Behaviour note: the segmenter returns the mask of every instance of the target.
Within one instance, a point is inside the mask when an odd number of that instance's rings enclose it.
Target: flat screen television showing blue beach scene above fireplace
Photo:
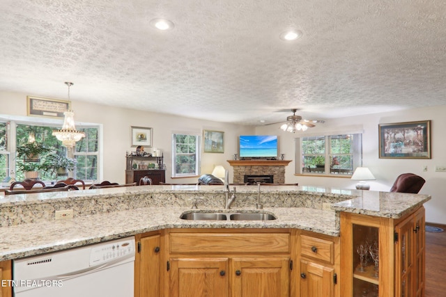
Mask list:
[[[277,157],[277,135],[240,135],[240,158]]]

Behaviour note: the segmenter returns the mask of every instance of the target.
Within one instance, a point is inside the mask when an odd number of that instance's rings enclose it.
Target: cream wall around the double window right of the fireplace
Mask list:
[[[369,167],[376,177],[369,182],[371,190],[389,191],[394,180],[401,173],[412,172],[426,179],[421,194],[431,195],[432,199],[424,204],[426,221],[446,224],[446,172],[435,172],[436,166],[446,166],[446,106],[433,106],[422,109],[410,109],[399,112],[387,112],[372,115],[361,115],[351,118],[328,120],[325,124],[307,130],[307,133],[330,131],[351,131],[363,129],[362,164]],[[394,122],[413,122],[431,120],[431,159],[379,159],[378,158],[378,124]],[[279,129],[280,125],[269,125],[256,128],[256,134],[279,135],[279,151],[285,159],[294,159],[294,138],[304,133],[292,134]],[[427,166],[427,172],[423,167]],[[337,188],[355,188],[356,182],[351,179],[337,177],[305,177],[296,176],[294,161],[286,167],[286,182],[298,182],[300,185],[332,186]]]

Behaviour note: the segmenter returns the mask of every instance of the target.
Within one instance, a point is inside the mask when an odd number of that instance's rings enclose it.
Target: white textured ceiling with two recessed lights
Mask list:
[[[446,104],[445,0],[1,0],[0,13],[0,90],[67,99],[72,81],[72,101],[245,125]]]

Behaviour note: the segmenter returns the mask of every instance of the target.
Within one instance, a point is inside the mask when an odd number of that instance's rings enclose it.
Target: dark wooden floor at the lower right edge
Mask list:
[[[446,226],[445,232],[426,232],[426,294],[425,297],[446,296]]]

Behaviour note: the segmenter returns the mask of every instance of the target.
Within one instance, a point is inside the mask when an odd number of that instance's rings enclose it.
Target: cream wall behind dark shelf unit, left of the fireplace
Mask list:
[[[29,94],[0,91],[0,106],[2,106],[0,114],[26,115],[26,95]],[[175,117],[148,111],[120,109],[73,100],[72,109],[75,111],[76,122],[93,122],[103,125],[104,170],[101,179],[121,184],[125,182],[125,152],[135,150],[135,147],[130,146],[131,126],[153,128],[153,147],[164,152],[164,163],[167,166],[166,182],[168,183],[197,182],[197,177],[171,179],[171,134],[173,131],[198,131],[201,135],[203,135],[203,129],[224,131],[224,153],[202,153],[201,173],[211,173],[216,165],[222,165],[229,170],[231,179],[233,170],[226,160],[233,159],[233,154],[238,153],[238,136],[240,134],[254,133],[252,127]],[[151,152],[151,148],[146,147],[145,151]]]

